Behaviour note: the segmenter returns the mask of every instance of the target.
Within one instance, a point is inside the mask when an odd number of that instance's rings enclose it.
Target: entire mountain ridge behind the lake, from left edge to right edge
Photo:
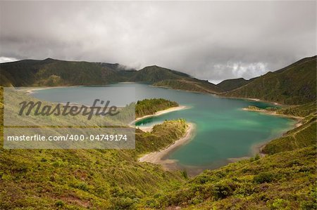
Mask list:
[[[232,98],[258,98],[286,105],[300,105],[316,100],[316,55],[302,58],[260,77],[249,80],[226,79],[217,85],[157,65],[135,70],[118,63],[52,58],[1,63],[0,73],[1,86],[76,86],[134,81]]]

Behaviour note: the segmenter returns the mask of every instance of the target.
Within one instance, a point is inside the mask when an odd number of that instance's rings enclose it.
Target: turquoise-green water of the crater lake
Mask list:
[[[187,169],[189,173],[218,168],[228,164],[231,158],[255,155],[255,145],[261,145],[281,136],[296,124],[292,119],[242,110],[249,105],[261,108],[273,106],[259,101],[219,98],[211,94],[176,91],[138,83],[118,83],[103,88],[107,87],[135,88],[136,100],[166,98],[190,107],[142,119],[136,123],[136,126],[151,126],[166,119],[183,118],[187,122],[196,124],[192,140],[173,150],[166,157],[175,159],[178,166]],[[85,91],[82,91],[82,88],[85,88]],[[71,100],[84,104],[96,98],[106,99],[102,94],[102,88],[94,86],[48,88],[34,91],[32,96],[52,102]],[[118,98],[122,104],[129,103],[125,101],[125,96]]]

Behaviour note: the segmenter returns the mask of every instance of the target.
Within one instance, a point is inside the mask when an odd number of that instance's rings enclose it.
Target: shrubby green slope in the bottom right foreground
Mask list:
[[[206,170],[149,206],[163,209],[316,209],[316,146]]]

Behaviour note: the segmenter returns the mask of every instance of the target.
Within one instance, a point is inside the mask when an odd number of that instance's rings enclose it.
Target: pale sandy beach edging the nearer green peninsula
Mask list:
[[[163,166],[163,169],[166,170],[175,170],[178,169],[177,162],[174,159],[164,159],[169,152],[175,150],[180,145],[184,145],[189,140],[193,138],[193,134],[195,131],[195,125],[192,123],[188,124],[188,129],[184,137],[176,140],[173,145],[169,145],[168,147],[164,148],[163,150],[151,152],[147,155],[144,155],[139,158],[139,162],[149,162],[152,164],[160,164]]]

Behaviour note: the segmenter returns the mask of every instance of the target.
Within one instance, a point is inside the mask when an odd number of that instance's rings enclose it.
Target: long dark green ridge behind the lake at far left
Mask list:
[[[13,86],[94,85],[120,81],[116,70],[99,63],[63,60],[20,60],[1,63],[0,73]],[[1,85],[4,81],[1,79]]]

